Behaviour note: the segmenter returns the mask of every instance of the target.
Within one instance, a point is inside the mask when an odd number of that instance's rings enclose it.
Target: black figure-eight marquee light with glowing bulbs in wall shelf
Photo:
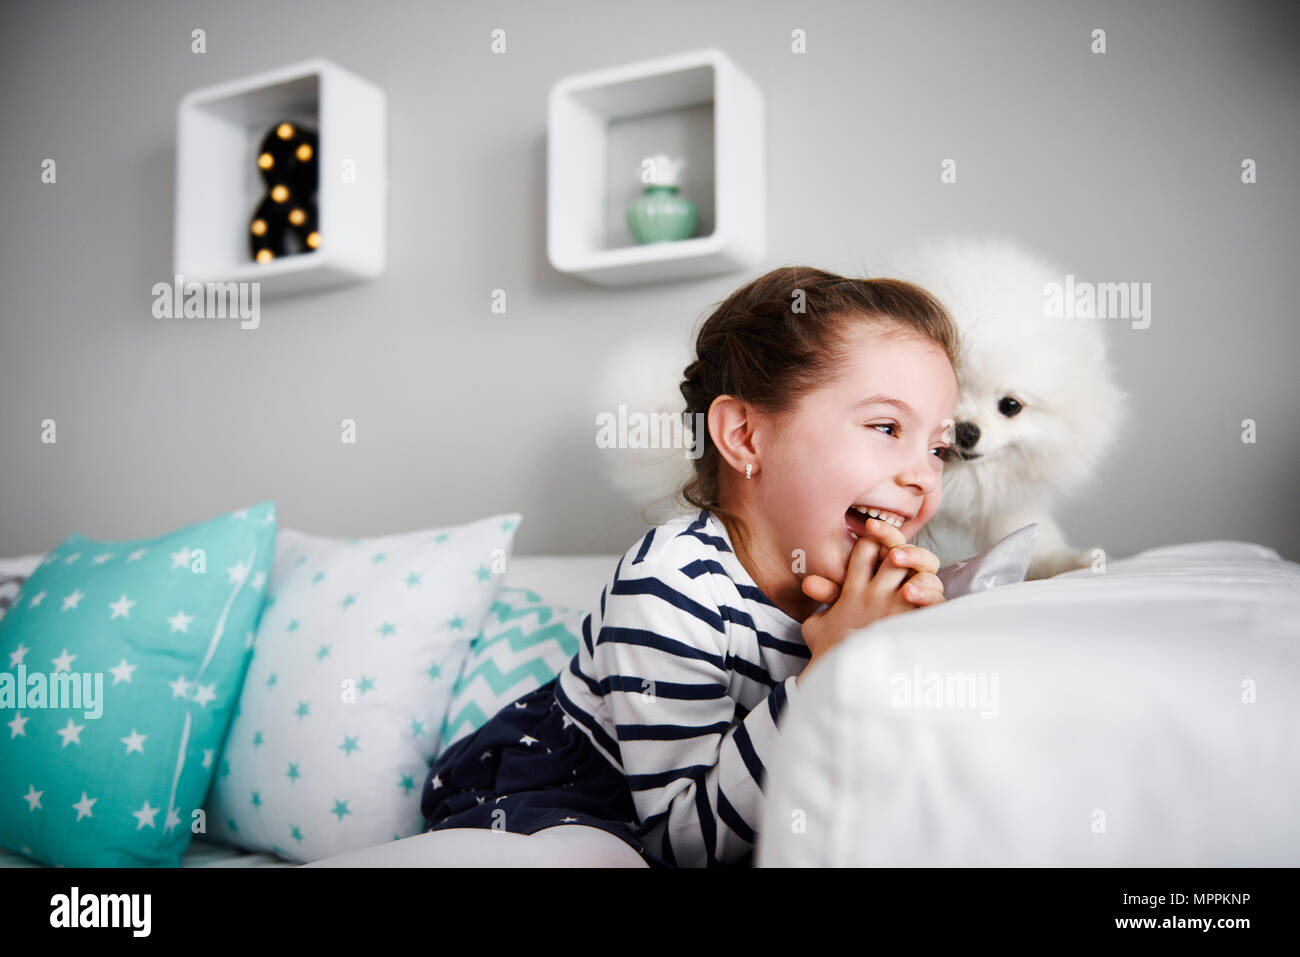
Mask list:
[[[320,248],[316,187],[320,181],[315,130],[282,121],[257,150],[266,194],[248,224],[248,250],[257,263]]]

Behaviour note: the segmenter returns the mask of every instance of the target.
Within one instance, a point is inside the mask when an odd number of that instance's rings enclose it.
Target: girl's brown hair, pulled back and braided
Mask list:
[[[696,360],[682,373],[688,434],[694,415],[707,416],[719,395],[734,395],[777,417],[833,380],[848,358],[848,334],[858,324],[885,335],[933,342],[957,368],[959,339],[948,309],[933,295],[902,280],[853,280],[805,265],[781,267],[741,286],[705,320]],[[744,521],[722,507],[722,454],[707,428],[696,450],[694,476],[677,490],[685,505],[707,508],[744,546]]]

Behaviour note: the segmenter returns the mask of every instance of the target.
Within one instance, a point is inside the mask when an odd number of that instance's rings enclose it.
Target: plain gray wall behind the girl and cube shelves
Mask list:
[[[1153,285],[1150,328],[1110,339],[1136,425],[1066,532],[1113,555],[1232,538],[1300,559],[1290,7],[6,3],[0,555],[266,498],[317,533],[517,510],[520,554],[623,551],[644,523],[606,477],[594,417],[614,406],[593,389],[621,342],[684,354],[712,303],[779,264],[861,272],[926,237],[997,231],[1080,278]],[[763,268],[621,290],[551,270],[551,82],[705,46],[767,96]],[[264,302],[256,332],[153,319],[179,98],[312,56],[389,95],[387,273]],[[946,156],[957,186],[939,182]],[[489,311],[497,287],[507,316]],[[343,417],[359,445],[338,441]]]

